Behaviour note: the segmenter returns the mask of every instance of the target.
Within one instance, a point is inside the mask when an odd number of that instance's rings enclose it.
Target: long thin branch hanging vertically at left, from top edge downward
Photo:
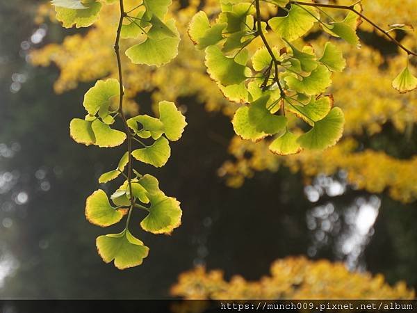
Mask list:
[[[135,200],[133,199],[133,193],[132,193],[132,184],[131,184],[131,179],[132,179],[132,136],[131,136],[131,132],[129,129],[129,126],[127,125],[127,121],[126,121],[126,116],[124,115],[123,112],[123,96],[124,96],[124,89],[123,89],[123,74],[122,74],[122,60],[120,58],[120,47],[119,47],[119,42],[120,42],[120,34],[122,33],[122,25],[123,25],[123,19],[124,17],[126,17],[126,13],[124,12],[124,6],[123,6],[123,0],[120,0],[120,19],[119,19],[119,25],[117,26],[117,35],[116,35],[116,41],[115,41],[115,54],[116,54],[116,58],[117,58],[117,69],[119,72],[119,83],[120,83],[120,100],[119,100],[119,113],[120,113],[120,118],[122,118],[123,121],[123,125],[124,125],[124,130],[126,133],[126,138],[127,138],[127,152],[129,154],[129,163],[128,163],[128,167],[127,167],[127,182],[129,184],[129,191],[130,191],[130,200],[131,200],[131,207],[129,208],[129,214],[127,216],[127,220],[126,220],[126,229],[129,226],[129,220],[131,217],[131,211],[133,209],[133,206],[135,204]]]

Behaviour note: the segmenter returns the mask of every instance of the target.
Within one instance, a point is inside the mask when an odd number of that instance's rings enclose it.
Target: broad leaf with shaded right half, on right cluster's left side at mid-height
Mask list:
[[[241,51],[240,54],[247,56],[247,50]],[[234,58],[224,56],[217,46],[206,48],[206,67],[211,79],[224,86],[239,84],[252,76],[249,67],[238,63]]]

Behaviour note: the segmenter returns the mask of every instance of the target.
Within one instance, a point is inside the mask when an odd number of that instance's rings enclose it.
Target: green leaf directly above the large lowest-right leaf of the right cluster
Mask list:
[[[291,102],[286,109],[313,126],[314,122],[322,120],[329,114],[333,104],[334,100],[332,95],[327,95],[318,99],[311,97],[309,104],[306,104],[305,106]]]

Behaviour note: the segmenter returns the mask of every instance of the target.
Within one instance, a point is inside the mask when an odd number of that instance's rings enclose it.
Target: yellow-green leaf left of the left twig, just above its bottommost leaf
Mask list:
[[[85,202],[85,216],[87,220],[97,226],[107,227],[119,222],[122,211],[111,206],[107,195],[101,189],[95,191]]]

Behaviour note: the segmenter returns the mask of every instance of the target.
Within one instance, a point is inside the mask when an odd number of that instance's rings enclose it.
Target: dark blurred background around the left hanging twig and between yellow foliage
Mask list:
[[[206,113],[195,99],[182,99],[188,127],[172,145],[170,161],[158,170],[141,168],[181,201],[182,225],[172,236],[148,234],[140,231],[135,214],[132,232],[149,246],[149,257],[142,266],[124,271],[104,264],[95,238],[120,227],[90,225],[84,204],[92,191],[106,188],[97,177],[115,168],[123,147],[85,147],[70,138],[70,120],[83,114],[83,94],[93,82],[55,95],[58,70],[26,63],[27,45],[42,45],[30,39],[38,29],[33,24],[36,3],[0,0],[0,298],[167,298],[177,275],[195,264],[222,268],[227,278],[241,274],[257,280],[268,274],[272,261],[288,255],[347,258],[338,247],[351,227],[343,214],[359,205],[358,199],[375,197],[347,187],[341,195],[324,195],[312,203],[300,175],[286,168],[259,172],[242,188],[228,188],[216,172],[230,158],[229,119]],[[44,42],[59,42],[65,35],[58,25],[52,27]],[[390,127],[377,140],[397,157],[416,154],[408,149],[402,155],[397,147],[404,146],[403,139]],[[378,144],[366,138],[363,143]],[[411,146],[416,147],[415,139]],[[343,175],[333,179],[343,183]],[[354,268],[417,287],[416,204],[377,197],[379,215]],[[338,212],[340,227],[318,243],[320,236],[307,227],[306,217],[329,203]]]

